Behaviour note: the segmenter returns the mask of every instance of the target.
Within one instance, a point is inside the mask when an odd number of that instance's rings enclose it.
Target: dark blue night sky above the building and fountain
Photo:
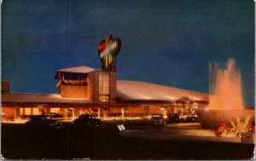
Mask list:
[[[55,72],[101,68],[96,46],[119,37],[119,79],[208,92],[208,64],[234,58],[254,105],[254,3],[3,0],[2,79],[15,92],[56,93]]]

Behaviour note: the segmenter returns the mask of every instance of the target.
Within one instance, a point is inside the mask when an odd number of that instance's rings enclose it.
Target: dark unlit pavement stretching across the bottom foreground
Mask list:
[[[127,130],[119,132],[118,124],[124,124]],[[184,124],[162,127],[144,121],[113,121],[102,128],[74,130],[66,124],[64,129],[55,131],[24,129],[22,124],[2,124],[1,154],[9,159],[252,158],[252,144],[191,140],[188,131],[195,134],[193,130],[201,129],[196,124],[189,127]],[[184,130],[187,133],[183,133]],[[127,137],[128,134],[131,136]]]

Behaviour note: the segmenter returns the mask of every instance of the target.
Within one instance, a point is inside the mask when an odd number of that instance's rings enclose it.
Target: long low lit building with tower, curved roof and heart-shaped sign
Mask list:
[[[208,95],[163,85],[117,80],[118,38],[106,37],[98,46],[102,70],[77,66],[58,70],[59,94],[25,94],[9,91],[2,81],[2,120],[23,120],[31,115],[55,112],[67,119],[83,113],[97,118],[148,118],[152,114],[195,112],[207,106]],[[110,52],[111,50],[111,52]]]

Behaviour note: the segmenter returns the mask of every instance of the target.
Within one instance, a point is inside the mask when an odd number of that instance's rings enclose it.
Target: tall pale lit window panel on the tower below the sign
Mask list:
[[[109,100],[109,75],[108,73],[100,73],[99,75],[99,100]]]

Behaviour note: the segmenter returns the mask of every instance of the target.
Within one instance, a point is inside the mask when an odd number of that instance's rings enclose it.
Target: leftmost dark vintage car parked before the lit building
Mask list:
[[[26,123],[26,128],[61,129],[63,124],[53,120],[49,115],[34,115]]]

